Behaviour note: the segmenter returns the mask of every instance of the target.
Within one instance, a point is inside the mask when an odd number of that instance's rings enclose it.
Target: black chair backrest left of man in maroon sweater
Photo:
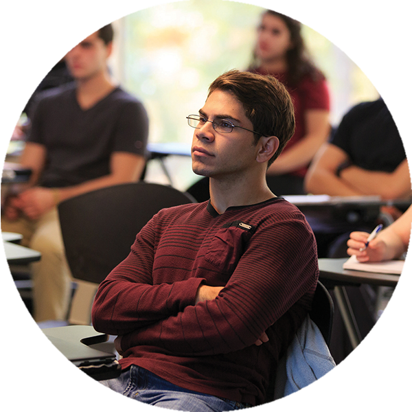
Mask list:
[[[100,284],[130,252],[137,233],[159,210],[192,203],[190,195],[155,183],[126,183],[85,193],[58,206],[73,277]]]

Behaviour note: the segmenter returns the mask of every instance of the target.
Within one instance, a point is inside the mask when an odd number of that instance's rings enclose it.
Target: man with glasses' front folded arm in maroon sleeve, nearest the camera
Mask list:
[[[253,345],[301,297],[314,290],[316,253],[311,236],[299,223],[282,224],[290,225],[295,233],[288,240],[279,240],[277,231],[262,231],[267,249],[262,252],[262,240],[252,241],[216,299],[185,306],[177,314],[122,336],[122,351],[154,345],[178,356],[206,356]]]

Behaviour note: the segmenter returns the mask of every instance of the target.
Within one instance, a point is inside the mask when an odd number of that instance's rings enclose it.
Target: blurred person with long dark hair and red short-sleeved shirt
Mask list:
[[[330,96],[325,76],[309,57],[296,10],[280,5],[262,14],[249,71],[280,80],[295,106],[295,134],[268,168],[268,186],[278,196],[304,194],[308,165],[330,133]]]

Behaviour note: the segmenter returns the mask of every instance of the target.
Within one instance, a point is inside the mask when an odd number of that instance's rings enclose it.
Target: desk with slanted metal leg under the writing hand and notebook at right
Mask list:
[[[393,288],[412,289],[412,275],[348,271],[347,269],[343,269],[343,262],[346,260],[347,258],[319,259],[319,280],[332,281],[335,285],[334,293],[336,301],[338,302],[345,328],[349,334],[350,342],[355,355],[360,361],[363,361],[367,358],[367,352],[363,345],[358,324],[356,323],[344,286],[373,284],[378,286],[391,286]]]

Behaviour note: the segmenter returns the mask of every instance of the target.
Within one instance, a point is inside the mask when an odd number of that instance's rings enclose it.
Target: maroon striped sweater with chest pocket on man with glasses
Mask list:
[[[318,275],[313,233],[282,198],[221,215],[207,202],[172,207],[100,284],[93,325],[124,335],[124,368],[256,404],[310,310]],[[200,284],[225,288],[195,306]],[[268,343],[254,345],[264,331]]]

